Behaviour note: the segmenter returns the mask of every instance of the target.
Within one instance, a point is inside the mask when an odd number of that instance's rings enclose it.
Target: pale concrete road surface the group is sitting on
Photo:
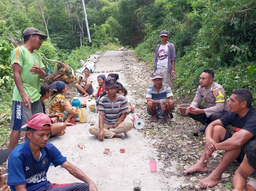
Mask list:
[[[93,86],[96,87],[99,74],[108,75],[110,70],[120,75],[119,82],[123,85],[125,81],[122,71],[121,59],[123,51],[110,51],[103,54],[96,63]],[[108,71],[108,72],[106,72]],[[127,87],[129,88],[129,87]],[[83,97],[79,97],[82,101]],[[126,120],[130,120],[128,117]],[[96,117],[98,123],[98,115]],[[67,157],[67,160],[80,168],[91,180],[94,181],[99,191],[132,191],[133,180],[141,180],[142,191],[169,191],[176,190],[179,182],[176,177],[169,179],[161,173],[163,164],[157,160],[157,172],[150,171],[149,160],[157,159],[157,152],[152,147],[155,140],[144,138],[137,129],[133,128],[126,133],[126,139],[113,138],[99,141],[98,137],[90,135],[88,123],[77,123],[68,126],[66,134],[61,137],[53,137],[49,141],[53,143]],[[84,142],[85,150],[77,147],[78,142]],[[109,154],[103,154],[105,148],[110,149]],[[124,148],[125,153],[119,149]],[[170,161],[171,162],[171,161]],[[175,165],[173,165],[175,171]],[[82,182],[68,173],[64,168],[50,167],[47,178],[52,183],[63,184]]]

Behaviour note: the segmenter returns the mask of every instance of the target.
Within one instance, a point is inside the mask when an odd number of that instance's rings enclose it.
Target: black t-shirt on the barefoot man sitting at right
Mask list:
[[[256,137],[256,109],[251,106],[247,114],[240,118],[236,113],[229,111],[221,119],[223,125],[232,125],[233,127],[245,129]]]

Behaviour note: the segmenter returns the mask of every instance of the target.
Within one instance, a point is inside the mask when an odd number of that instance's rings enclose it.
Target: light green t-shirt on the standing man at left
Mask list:
[[[33,51],[33,54],[31,54],[24,46],[19,46],[12,51],[11,60],[12,65],[18,63],[22,67],[20,77],[25,93],[33,102],[38,101],[41,97],[40,77],[39,74],[32,75],[29,69],[33,64],[44,68],[41,55],[36,51]],[[16,85],[14,86],[12,99],[14,101],[22,101]]]

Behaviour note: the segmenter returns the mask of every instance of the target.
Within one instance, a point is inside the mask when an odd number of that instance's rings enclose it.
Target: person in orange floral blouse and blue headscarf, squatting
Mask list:
[[[69,120],[79,121],[79,119],[73,118],[77,115],[76,107],[72,107],[71,103],[66,101],[64,94],[67,93],[67,85],[64,82],[57,81],[51,84],[51,89],[54,92],[54,96],[49,104],[49,113],[63,113],[64,123],[66,125],[75,125],[70,123]]]

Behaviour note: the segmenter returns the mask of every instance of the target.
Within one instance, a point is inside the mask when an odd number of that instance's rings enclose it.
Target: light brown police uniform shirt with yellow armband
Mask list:
[[[202,99],[204,100],[207,107],[206,109],[204,109],[205,115],[207,117],[210,117],[216,112],[230,110],[225,90],[221,85],[216,82],[213,82],[208,90],[204,87],[198,86],[196,96],[190,106],[198,107]]]

